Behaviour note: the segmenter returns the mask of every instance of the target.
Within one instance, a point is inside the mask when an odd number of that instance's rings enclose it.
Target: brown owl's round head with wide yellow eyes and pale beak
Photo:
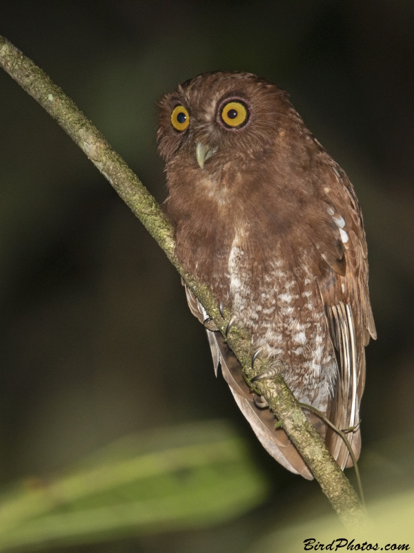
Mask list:
[[[262,158],[291,126],[288,95],[251,73],[204,73],[159,104],[159,152],[174,169],[217,174]]]

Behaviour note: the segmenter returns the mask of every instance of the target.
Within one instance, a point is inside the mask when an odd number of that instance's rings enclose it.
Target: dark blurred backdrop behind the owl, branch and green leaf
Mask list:
[[[367,495],[412,485],[414,3],[14,0],[0,1],[0,17],[0,34],[75,100],[159,202],[164,93],[221,68],[288,90],[364,213],[378,331],[362,402]],[[277,521],[329,512],[315,482],[268,456],[215,379],[204,330],[155,241],[6,73],[0,129],[0,482],[48,478],[139,429],[227,418],[270,481],[262,507],[208,529],[68,551],[243,552]]]

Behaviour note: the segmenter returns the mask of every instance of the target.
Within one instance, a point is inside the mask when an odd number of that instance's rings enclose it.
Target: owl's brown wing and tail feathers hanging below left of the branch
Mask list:
[[[199,321],[204,323],[208,316],[201,303],[194,296],[193,292],[186,288],[186,297],[188,307]],[[239,406],[240,411],[248,420],[253,431],[259,438],[263,447],[275,458],[281,465],[294,474],[300,474],[308,480],[313,480],[313,475],[308,466],[302,459],[299,451],[288,438],[284,429],[275,429],[277,419],[269,409],[259,409],[254,400],[253,393],[250,392],[244,381],[242,366],[237,361],[234,353],[227,346],[220,332],[207,330],[208,343],[210,344],[211,355],[215,373],[219,365],[221,373],[226,380],[230,391]]]

